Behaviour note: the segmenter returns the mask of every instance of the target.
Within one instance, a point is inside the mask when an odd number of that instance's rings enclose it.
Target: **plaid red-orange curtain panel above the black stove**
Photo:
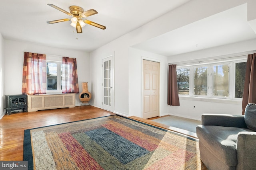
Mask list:
[[[46,94],[46,55],[24,53],[22,94]]]

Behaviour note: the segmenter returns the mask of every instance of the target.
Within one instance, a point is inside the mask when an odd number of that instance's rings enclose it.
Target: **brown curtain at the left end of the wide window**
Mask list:
[[[180,100],[178,95],[178,85],[177,85],[176,64],[169,65],[167,104],[170,106],[180,106]]]

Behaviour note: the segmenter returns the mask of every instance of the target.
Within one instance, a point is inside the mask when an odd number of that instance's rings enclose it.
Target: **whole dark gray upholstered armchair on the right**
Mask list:
[[[256,104],[244,115],[203,114],[196,127],[202,162],[209,170],[256,170]]]

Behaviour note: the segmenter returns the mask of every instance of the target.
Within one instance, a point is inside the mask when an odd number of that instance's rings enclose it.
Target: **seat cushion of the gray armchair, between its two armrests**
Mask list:
[[[236,166],[237,135],[242,131],[251,131],[238,127],[223,127],[212,125],[198,125],[196,134],[199,141],[214,154],[221,162],[228,166]]]

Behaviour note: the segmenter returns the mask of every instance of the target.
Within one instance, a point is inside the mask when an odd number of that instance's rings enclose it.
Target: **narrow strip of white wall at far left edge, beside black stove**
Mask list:
[[[4,38],[0,33],[0,119],[4,116]]]

